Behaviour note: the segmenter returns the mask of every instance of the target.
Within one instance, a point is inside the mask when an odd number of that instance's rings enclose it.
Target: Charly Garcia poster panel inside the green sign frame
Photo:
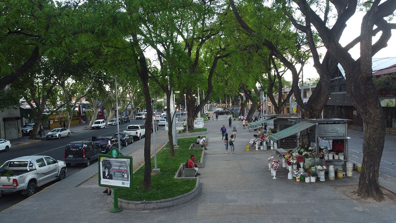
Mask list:
[[[100,182],[102,185],[130,187],[129,159],[101,157]]]

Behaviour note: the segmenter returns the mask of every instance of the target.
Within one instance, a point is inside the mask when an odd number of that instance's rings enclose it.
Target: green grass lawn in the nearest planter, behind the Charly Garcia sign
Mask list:
[[[175,149],[175,157],[169,156],[169,144],[157,154],[157,165],[161,172],[151,175],[151,189],[143,190],[143,175],[145,167],[142,166],[133,174],[133,190],[119,190],[119,198],[133,201],[162,200],[173,198],[190,192],[195,187],[196,180],[175,179],[175,173],[181,163],[190,159],[191,155],[196,161],[201,160],[202,149],[189,150],[196,137],[180,138],[177,140],[179,149]],[[154,157],[151,159],[151,168],[154,168]]]

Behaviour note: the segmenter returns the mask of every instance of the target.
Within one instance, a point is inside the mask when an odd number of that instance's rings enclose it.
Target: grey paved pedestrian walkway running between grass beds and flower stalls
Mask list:
[[[200,195],[173,208],[153,211],[123,210],[110,213],[109,196],[97,186],[97,179],[86,180],[81,171],[55,186],[0,213],[2,221],[11,222],[395,222],[394,202],[362,204],[345,196],[343,185],[354,185],[358,175],[335,181],[305,183],[287,180],[286,168],[280,167],[277,178],[268,171],[267,156],[274,150],[246,151],[253,133],[237,127],[236,154],[225,154],[219,133],[228,126],[226,116],[205,123],[209,133],[205,168],[200,169]],[[228,128],[227,128],[228,129]],[[228,129],[230,131],[230,129]],[[97,169],[88,169],[95,174]],[[84,176],[85,175],[85,176]],[[341,185],[341,186],[335,186]]]

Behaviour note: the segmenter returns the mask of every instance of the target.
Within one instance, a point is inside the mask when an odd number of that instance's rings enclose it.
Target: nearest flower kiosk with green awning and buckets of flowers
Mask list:
[[[289,119],[296,124],[269,136],[279,143],[283,138],[300,135],[308,145],[283,150],[280,154],[283,167],[289,170],[288,179],[305,179],[306,182],[334,180],[352,176],[352,163],[348,163],[348,121],[349,119]],[[307,130],[307,131],[305,131]],[[304,135],[302,135],[302,133]],[[300,139],[301,140],[301,139]],[[269,163],[270,161],[268,161]],[[271,161],[273,163],[273,161]],[[308,178],[308,179],[307,179]]]

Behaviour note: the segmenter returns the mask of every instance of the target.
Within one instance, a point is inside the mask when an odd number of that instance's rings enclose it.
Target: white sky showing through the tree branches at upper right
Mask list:
[[[341,45],[345,46],[348,44],[350,41],[354,40],[354,38],[358,37],[360,35],[360,26],[362,23],[362,18],[364,16],[365,12],[360,12],[357,11],[355,15],[353,15],[348,22],[346,23],[346,28],[344,30],[344,33],[340,39]],[[392,20],[392,23],[395,23],[396,19]],[[381,32],[377,34],[377,36],[373,37],[373,43],[378,40],[380,37]],[[352,58],[358,59],[360,57],[360,48],[359,44],[357,44],[354,48],[352,48],[349,53],[352,55]],[[392,30],[392,37],[388,41],[388,46],[386,48],[383,48],[380,50],[377,54],[373,56],[373,58],[388,58],[388,57],[396,57],[395,54],[395,49],[396,49],[396,30]],[[326,48],[322,47],[318,49],[319,53],[322,53],[323,55],[326,53]],[[297,70],[300,67],[297,67]],[[287,81],[291,81],[291,73],[285,73],[284,75],[285,79]],[[301,76],[300,76],[301,77]],[[305,64],[304,66],[304,81],[307,81],[307,78],[318,78],[319,75],[316,72],[316,69],[313,67],[313,61],[310,60],[308,63]]]

